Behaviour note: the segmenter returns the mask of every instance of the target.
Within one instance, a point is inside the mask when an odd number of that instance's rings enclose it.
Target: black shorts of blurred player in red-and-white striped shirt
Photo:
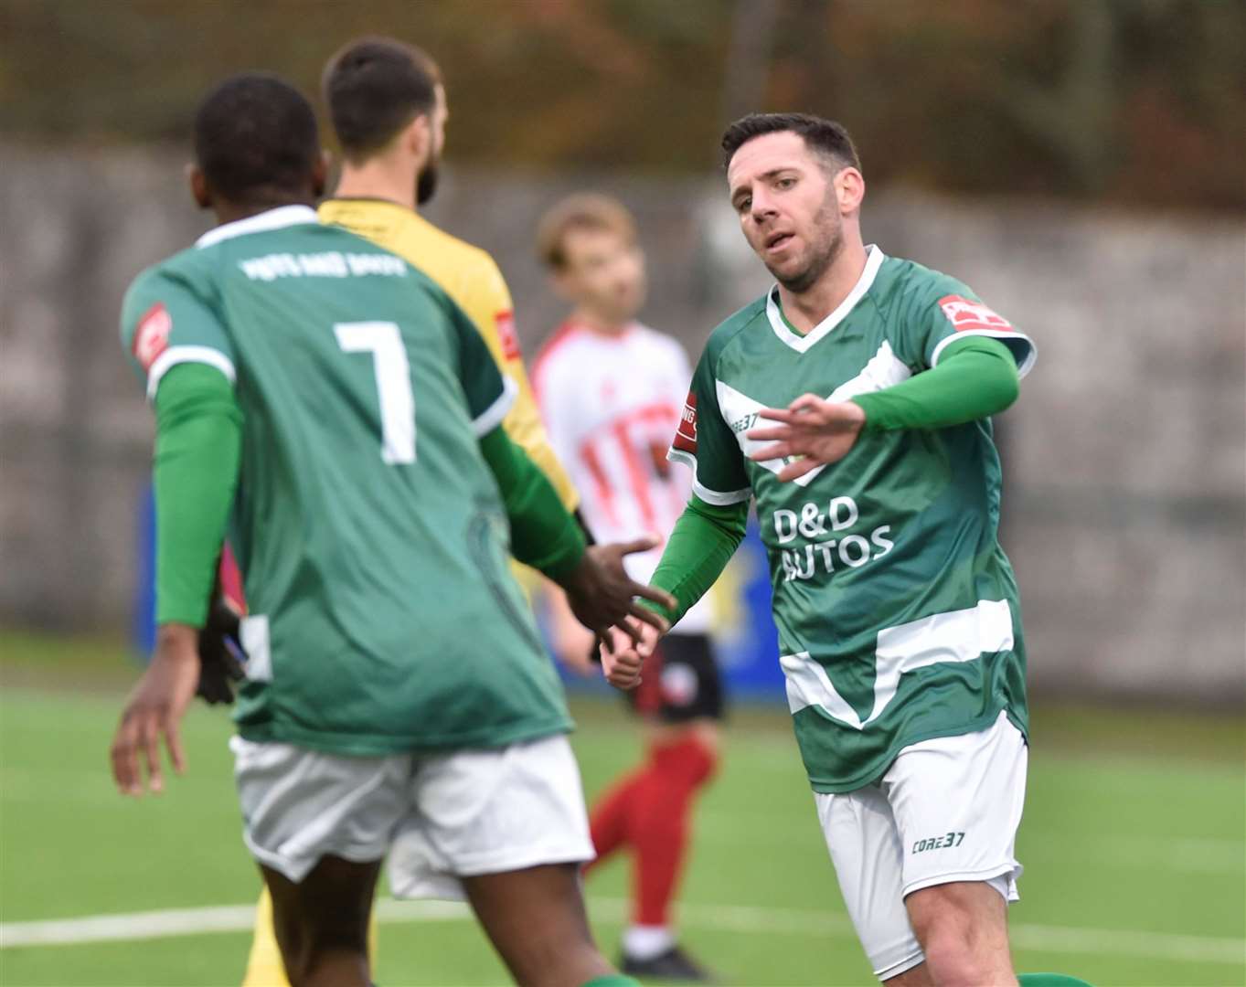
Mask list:
[[[640,685],[627,695],[649,722],[670,727],[718,722],[726,713],[723,678],[706,634],[667,634],[645,662]]]

